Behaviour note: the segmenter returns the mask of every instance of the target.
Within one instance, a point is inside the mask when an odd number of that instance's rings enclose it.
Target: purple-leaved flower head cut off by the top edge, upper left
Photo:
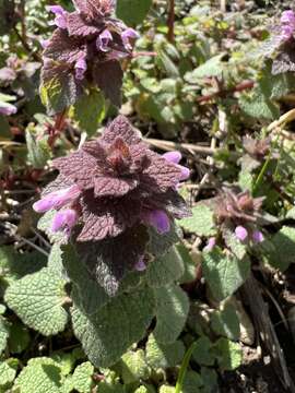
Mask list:
[[[61,96],[59,100],[51,98],[51,112],[57,112],[74,104],[84,88],[97,86],[114,105],[120,106],[120,60],[132,56],[139,34],[113,15],[114,0],[73,3],[73,12],[60,5],[48,7],[57,28],[50,39],[42,43],[42,96]]]

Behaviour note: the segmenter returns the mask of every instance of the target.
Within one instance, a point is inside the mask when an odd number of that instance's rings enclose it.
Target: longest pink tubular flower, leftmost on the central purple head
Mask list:
[[[67,189],[50,192],[39,201],[35,202],[33,209],[37,213],[45,213],[51,209],[60,209],[74,202],[81,194],[78,186],[71,186]]]

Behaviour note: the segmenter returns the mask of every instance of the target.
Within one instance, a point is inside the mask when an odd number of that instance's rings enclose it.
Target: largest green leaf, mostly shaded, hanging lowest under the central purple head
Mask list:
[[[149,288],[117,296],[92,315],[74,307],[71,310],[74,334],[96,367],[108,367],[143,337],[154,307]]]

